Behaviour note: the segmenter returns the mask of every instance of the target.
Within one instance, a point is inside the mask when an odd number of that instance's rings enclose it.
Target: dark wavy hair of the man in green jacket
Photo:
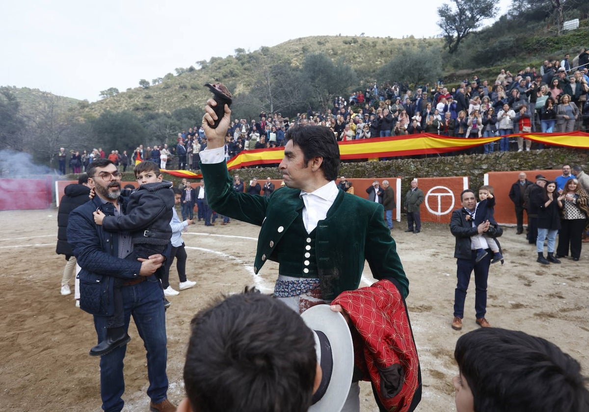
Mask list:
[[[305,164],[313,157],[322,157],[321,168],[327,180],[336,180],[339,171],[339,146],[333,131],[325,126],[295,126],[286,132],[286,141],[303,151]]]

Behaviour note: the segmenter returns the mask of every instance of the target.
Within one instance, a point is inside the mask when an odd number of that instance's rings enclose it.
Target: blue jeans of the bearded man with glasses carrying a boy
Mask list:
[[[137,331],[147,350],[147,376],[149,387],[147,395],[153,403],[166,399],[168,377],[166,362],[168,357],[166,337],[166,316],[164,315],[164,293],[160,280],[151,275],[147,280],[131,286],[121,287],[125,331],[128,330],[131,315]],[[98,342],[107,337],[107,316],[94,315],[94,327]],[[106,412],[120,412],[125,391],[123,361],[127,345],[116,348],[100,357],[100,396],[102,409]]]

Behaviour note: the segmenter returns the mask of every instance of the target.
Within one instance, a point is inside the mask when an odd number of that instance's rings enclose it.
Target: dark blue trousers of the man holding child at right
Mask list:
[[[456,259],[456,290],[454,291],[454,316],[464,317],[464,301],[466,290],[471,281],[471,273],[475,272],[475,312],[478,318],[484,318],[487,313],[487,278],[491,265],[491,250],[479,263],[475,263],[477,251],[473,250],[470,259]]]

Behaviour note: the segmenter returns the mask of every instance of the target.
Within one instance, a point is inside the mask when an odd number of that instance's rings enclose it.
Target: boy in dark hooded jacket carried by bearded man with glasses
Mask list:
[[[115,211],[114,215],[105,215],[99,209],[94,212],[94,222],[104,226],[107,231],[130,232],[128,242],[119,245],[130,250],[125,259],[136,261],[154,254],[167,255],[174,207],[174,192],[170,190],[172,184],[163,181],[160,168],[151,161],[141,162],[135,166],[134,172],[140,187],[129,197],[127,214],[120,215]],[[155,274],[161,277],[160,273]],[[137,281],[145,279],[140,277]],[[124,329],[121,286],[123,281],[116,279],[113,289],[114,311],[108,319],[107,338],[90,350],[92,356],[105,355],[131,339]]]

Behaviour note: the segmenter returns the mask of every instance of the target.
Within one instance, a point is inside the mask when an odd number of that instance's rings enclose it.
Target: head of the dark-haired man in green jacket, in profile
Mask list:
[[[309,177],[332,181],[339,170],[339,146],[333,132],[322,126],[293,127],[286,132],[284,158],[280,162],[288,187],[302,188]]]

